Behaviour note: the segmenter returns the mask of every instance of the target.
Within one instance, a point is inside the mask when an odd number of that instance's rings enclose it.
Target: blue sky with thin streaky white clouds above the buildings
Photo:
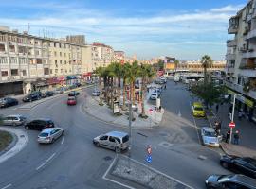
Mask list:
[[[85,35],[138,59],[224,60],[229,18],[247,0],[9,0],[0,26],[36,36]]]

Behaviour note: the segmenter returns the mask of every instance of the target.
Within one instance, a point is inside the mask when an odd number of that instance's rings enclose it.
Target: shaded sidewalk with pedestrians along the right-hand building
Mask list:
[[[226,137],[226,133],[229,130],[229,113],[230,104],[219,105],[219,112],[215,110],[215,106],[212,107],[213,116],[208,117],[211,126],[214,126],[214,121],[219,120],[222,122],[221,134]],[[247,121],[246,118],[238,120],[238,112],[234,113],[235,130],[240,132],[239,146],[229,145],[223,143],[221,146],[227,154],[238,155],[238,156],[251,156],[251,153],[256,154],[256,125],[252,122]],[[255,156],[255,155],[254,155]]]

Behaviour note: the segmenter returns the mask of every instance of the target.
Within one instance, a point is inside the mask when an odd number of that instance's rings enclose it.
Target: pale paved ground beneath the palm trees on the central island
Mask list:
[[[115,116],[112,112],[112,110],[107,106],[99,105],[100,99],[99,97],[92,97],[90,94],[86,95],[85,103],[82,105],[82,111],[88,113],[89,115],[107,122],[112,123],[115,125],[119,125],[122,127],[128,127],[129,125],[129,113],[128,111],[122,111],[122,115]],[[133,115],[136,118],[135,121],[132,122],[132,127],[137,129],[148,129],[155,126],[158,126],[159,123],[162,120],[162,116],[164,113],[164,110],[162,109],[161,112],[153,112],[149,113],[149,109],[152,108],[155,109],[155,106],[149,105],[147,101],[145,100],[145,112],[146,115],[148,115],[147,119],[139,117],[139,114],[141,112],[141,106],[137,106],[137,111],[133,111]]]

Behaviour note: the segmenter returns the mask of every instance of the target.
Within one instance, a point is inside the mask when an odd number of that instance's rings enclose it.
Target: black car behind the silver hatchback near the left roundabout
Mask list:
[[[54,123],[50,119],[36,119],[28,122],[25,129],[43,130],[46,128],[54,128]]]

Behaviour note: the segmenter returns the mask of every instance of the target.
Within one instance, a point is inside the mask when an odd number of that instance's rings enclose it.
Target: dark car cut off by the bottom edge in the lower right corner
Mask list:
[[[256,189],[256,180],[244,175],[211,175],[205,184],[208,189]]]

